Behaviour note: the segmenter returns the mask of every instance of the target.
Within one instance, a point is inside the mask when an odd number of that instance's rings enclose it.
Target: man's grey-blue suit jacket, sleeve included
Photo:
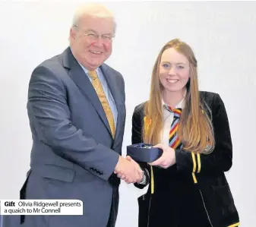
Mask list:
[[[105,64],[100,69],[118,110],[115,139],[69,48],[33,71],[27,102],[33,148],[21,197],[82,200],[84,215],[25,216],[22,226],[105,227],[108,222],[112,190],[120,182],[113,171],[122,152],[125,86],[118,71]]]

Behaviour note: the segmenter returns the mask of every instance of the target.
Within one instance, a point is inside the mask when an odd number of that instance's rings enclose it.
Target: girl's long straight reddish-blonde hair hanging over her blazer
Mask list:
[[[160,143],[163,131],[163,106],[162,92],[163,85],[160,82],[159,71],[160,61],[166,49],[173,48],[177,52],[188,58],[190,68],[190,79],[186,84],[185,108],[179,121],[179,137],[183,143],[183,150],[194,153],[210,153],[215,145],[213,136],[213,125],[207,109],[201,103],[198,90],[198,63],[194,57],[194,52],[188,44],[179,39],[172,39],[161,49],[153,66],[150,86],[150,99],[144,108],[144,143]],[[206,150],[210,147],[210,150]]]

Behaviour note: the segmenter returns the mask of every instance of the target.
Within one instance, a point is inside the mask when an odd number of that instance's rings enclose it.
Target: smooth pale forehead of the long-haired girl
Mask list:
[[[183,63],[185,65],[188,65],[188,58],[185,55],[182,55],[182,53],[177,52],[174,48],[166,49],[162,56],[161,56],[161,62],[166,61],[173,64],[177,63]]]

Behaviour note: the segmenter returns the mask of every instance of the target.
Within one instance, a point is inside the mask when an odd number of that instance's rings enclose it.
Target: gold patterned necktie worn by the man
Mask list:
[[[109,127],[112,132],[112,137],[115,137],[115,120],[112,115],[112,110],[109,106],[108,99],[106,99],[106,95],[103,90],[103,86],[100,83],[100,79],[96,73],[96,71],[89,71],[88,74],[92,78],[92,84],[94,87],[94,90],[96,91],[97,96],[100,99],[101,105],[103,106],[104,112],[106,114],[106,118],[109,121]]]

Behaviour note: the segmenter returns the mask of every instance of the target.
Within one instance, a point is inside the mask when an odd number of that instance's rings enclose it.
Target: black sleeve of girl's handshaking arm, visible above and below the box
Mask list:
[[[143,106],[136,106],[134,109],[134,113],[132,115],[132,129],[131,129],[131,143],[143,143],[142,137],[142,128],[143,128]],[[137,162],[141,169],[144,171],[144,175],[146,177],[145,184],[137,184],[135,183],[134,186],[136,188],[145,188],[150,181],[150,167],[145,162]]]

